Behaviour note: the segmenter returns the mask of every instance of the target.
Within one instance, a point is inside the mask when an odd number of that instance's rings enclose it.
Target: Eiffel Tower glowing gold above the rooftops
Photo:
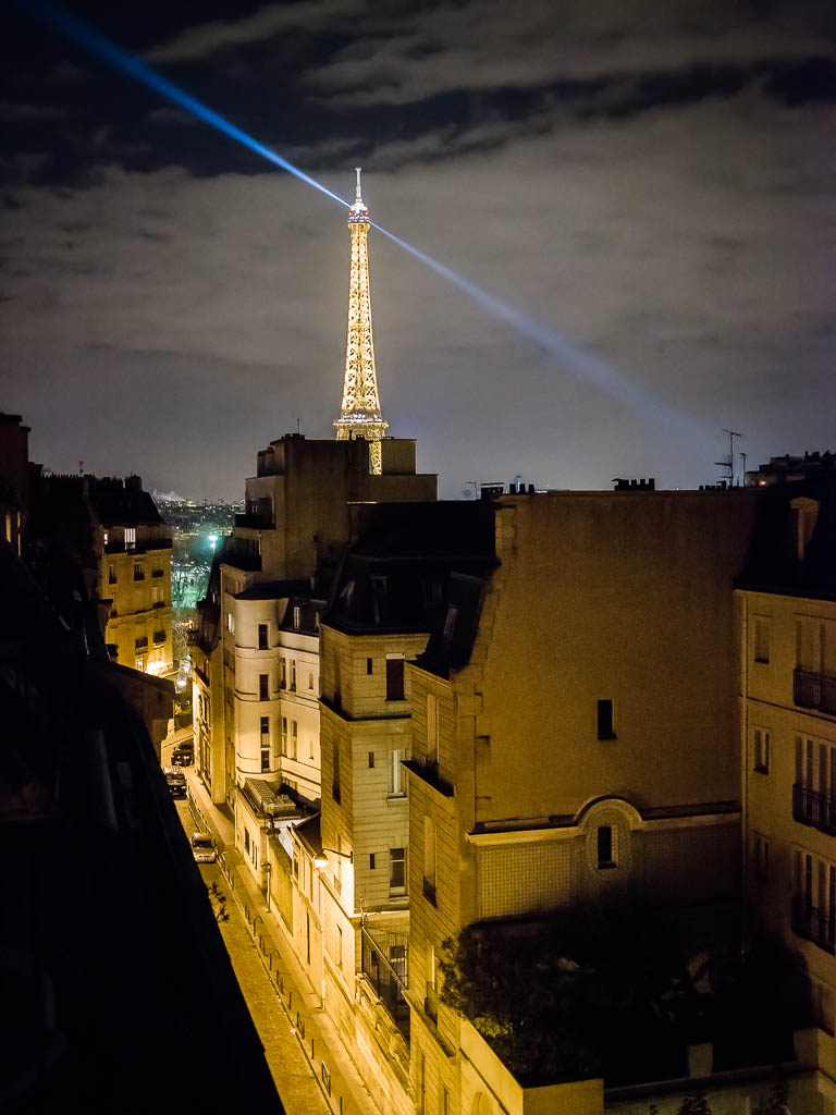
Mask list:
[[[337,440],[352,437],[369,443],[371,472],[382,471],[380,440],[389,428],[380,413],[378,375],[375,368],[375,339],[371,333],[371,287],[369,280],[369,211],[362,198],[360,167],[357,169],[357,192],[349,210],[351,233],[351,275],[349,280],[349,323],[346,341],[346,377],[342,385],[342,407],[334,421]]]

